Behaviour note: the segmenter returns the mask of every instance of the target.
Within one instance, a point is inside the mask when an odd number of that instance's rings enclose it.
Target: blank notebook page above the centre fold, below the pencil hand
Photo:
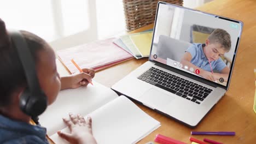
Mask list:
[[[96,81],[94,86],[65,89],[60,91],[53,104],[39,116],[39,122],[47,128],[49,136],[66,127],[62,118],[68,118],[68,113],[88,115],[109,101],[118,98],[118,95]]]

